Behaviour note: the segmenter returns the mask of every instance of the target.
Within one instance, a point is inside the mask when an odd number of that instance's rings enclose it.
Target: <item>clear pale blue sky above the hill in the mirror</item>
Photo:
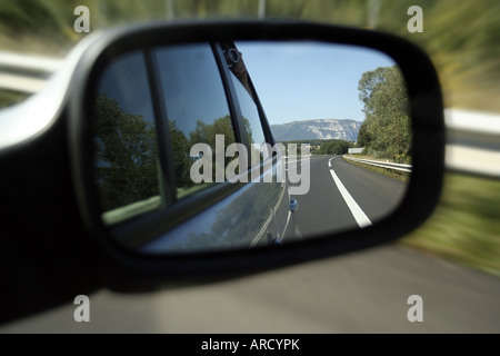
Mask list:
[[[394,65],[384,53],[317,42],[237,42],[269,122],[364,120],[358,82]]]

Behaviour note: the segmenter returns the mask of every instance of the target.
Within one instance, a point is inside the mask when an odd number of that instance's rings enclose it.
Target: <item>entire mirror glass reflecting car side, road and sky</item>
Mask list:
[[[110,235],[147,254],[282,245],[369,227],[411,176],[398,65],[369,48],[234,41],[110,58],[91,103]]]

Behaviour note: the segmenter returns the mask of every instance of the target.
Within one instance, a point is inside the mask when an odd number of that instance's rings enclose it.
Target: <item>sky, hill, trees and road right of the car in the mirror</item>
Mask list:
[[[397,63],[376,50],[324,43],[237,43],[277,141],[310,147],[297,224],[304,237],[388,216],[411,175],[411,123]]]

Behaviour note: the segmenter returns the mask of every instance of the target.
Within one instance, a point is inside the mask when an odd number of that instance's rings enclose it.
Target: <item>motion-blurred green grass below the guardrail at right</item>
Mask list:
[[[500,276],[500,180],[448,174],[432,217],[402,244]]]

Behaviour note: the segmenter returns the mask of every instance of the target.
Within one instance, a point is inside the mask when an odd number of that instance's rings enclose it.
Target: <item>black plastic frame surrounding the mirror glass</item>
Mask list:
[[[222,280],[373,247],[420,226],[438,202],[446,142],[441,90],[428,56],[406,40],[372,30],[268,20],[154,22],[92,36],[98,38],[80,59],[71,81],[68,135],[81,218],[97,247],[104,283],[112,290],[150,290]],[[214,40],[312,40],[367,47],[391,57],[407,82],[413,130],[412,176],[400,206],[387,218],[363,229],[248,250],[148,256],[127,250],[113,241],[101,222],[93,187],[89,122],[89,100],[92,96],[89,88],[93,88],[109,58],[148,46]]]

